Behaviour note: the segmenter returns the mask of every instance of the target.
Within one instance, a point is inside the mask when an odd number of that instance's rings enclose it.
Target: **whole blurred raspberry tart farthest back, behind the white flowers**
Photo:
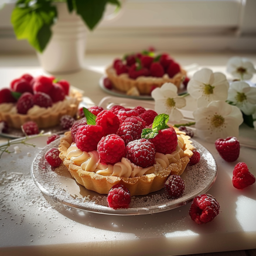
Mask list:
[[[153,88],[173,83],[178,88],[186,71],[169,54],[144,51],[115,59],[105,70],[108,83],[127,95],[151,95]]]

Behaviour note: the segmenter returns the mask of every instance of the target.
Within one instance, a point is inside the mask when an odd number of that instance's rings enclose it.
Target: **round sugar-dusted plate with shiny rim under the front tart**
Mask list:
[[[107,195],[98,194],[76,183],[66,166],[52,168],[45,160],[49,148],[57,147],[60,139],[47,145],[34,159],[31,168],[33,180],[39,189],[52,199],[68,206],[101,214],[141,215],[175,209],[189,203],[198,194],[206,193],[217,176],[216,162],[209,151],[193,141],[199,150],[201,160],[197,165],[187,166],[182,174],[185,192],[179,199],[170,200],[165,190],[159,190],[146,196],[132,197],[128,209],[114,210],[108,207]]]

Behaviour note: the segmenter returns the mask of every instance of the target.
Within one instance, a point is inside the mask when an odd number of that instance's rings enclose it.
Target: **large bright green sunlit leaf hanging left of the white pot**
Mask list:
[[[43,52],[52,36],[50,26],[56,17],[56,7],[49,1],[41,0],[32,5],[19,1],[12,11],[11,22],[18,40],[26,39],[38,52]]]

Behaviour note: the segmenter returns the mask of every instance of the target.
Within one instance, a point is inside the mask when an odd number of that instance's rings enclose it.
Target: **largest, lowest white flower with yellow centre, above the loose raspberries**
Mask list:
[[[207,107],[193,112],[196,121],[196,134],[199,138],[214,142],[218,138],[238,136],[243,115],[239,108],[225,101],[212,101]]]

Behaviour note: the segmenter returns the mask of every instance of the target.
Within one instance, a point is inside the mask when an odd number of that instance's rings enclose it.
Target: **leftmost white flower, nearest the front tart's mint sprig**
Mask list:
[[[179,122],[182,118],[182,112],[177,108],[183,108],[186,105],[185,98],[178,96],[178,88],[172,83],[165,83],[161,88],[152,91],[152,97],[155,100],[155,111],[158,114],[168,114],[170,122]]]

